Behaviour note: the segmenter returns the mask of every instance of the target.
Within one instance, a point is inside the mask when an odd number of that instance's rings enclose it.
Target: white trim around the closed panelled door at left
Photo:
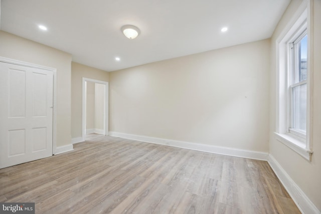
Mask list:
[[[52,137],[52,154],[57,152],[57,69],[50,68],[47,66],[37,65],[33,63],[28,63],[20,60],[9,59],[6,57],[0,57],[0,62],[10,63],[14,65],[26,66],[30,68],[38,68],[53,72],[53,137]]]

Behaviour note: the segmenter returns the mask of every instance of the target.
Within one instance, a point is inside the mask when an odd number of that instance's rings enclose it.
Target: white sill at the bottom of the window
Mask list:
[[[274,132],[275,137],[278,141],[301,155],[307,160],[311,160],[311,154],[313,153],[311,150],[305,148],[305,143],[288,135],[288,134],[279,134]]]

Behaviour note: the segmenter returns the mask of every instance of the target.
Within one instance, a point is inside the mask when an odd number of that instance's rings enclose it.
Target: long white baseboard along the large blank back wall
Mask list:
[[[235,157],[245,157],[245,158],[256,159],[256,160],[268,159],[267,152],[235,149],[235,148],[213,146],[213,145],[200,144],[200,143],[191,143],[191,142],[184,142],[184,141],[178,141],[178,140],[169,140],[169,139],[162,139],[162,138],[155,138],[155,137],[148,137],[148,136],[141,136],[141,135],[134,135],[134,134],[125,134],[125,133],[119,133],[119,132],[113,132],[113,131],[108,132],[108,134],[114,137],[121,137],[121,138],[126,138],[131,140],[169,145],[169,146],[175,146],[180,148],[186,148],[186,149],[192,149],[192,150],[204,151],[204,152],[210,152],[210,153],[216,153],[216,154],[224,154],[224,155],[230,155]]]

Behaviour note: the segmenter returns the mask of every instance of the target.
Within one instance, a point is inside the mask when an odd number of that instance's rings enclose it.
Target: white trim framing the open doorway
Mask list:
[[[104,81],[100,81],[100,80],[94,80],[94,79],[89,79],[89,78],[82,78],[82,138],[85,139],[86,136],[86,82],[94,82],[94,83],[100,83],[100,84],[104,84],[105,85],[105,100],[104,100],[104,104],[105,104],[105,112],[104,112],[104,132],[102,134],[108,135],[108,130],[109,130],[109,97],[108,97],[108,93],[109,93],[109,89],[108,89],[108,82],[104,82]],[[98,130],[98,129],[97,129]],[[91,133],[96,133],[96,132],[91,132]],[[100,130],[99,133],[100,134]]]

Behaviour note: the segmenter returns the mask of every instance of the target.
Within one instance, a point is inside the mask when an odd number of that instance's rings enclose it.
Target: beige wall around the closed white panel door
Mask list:
[[[57,69],[57,147],[71,143],[71,55],[0,31],[0,56]]]

